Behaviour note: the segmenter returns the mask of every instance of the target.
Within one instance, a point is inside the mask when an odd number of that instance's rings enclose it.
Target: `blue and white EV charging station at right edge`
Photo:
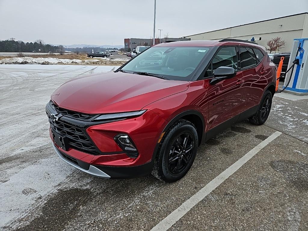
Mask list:
[[[287,73],[284,87],[287,86],[290,80],[289,85],[286,87],[286,92],[294,95],[308,95],[308,38],[294,39],[288,69],[295,59],[298,59],[298,64],[294,67],[295,70],[292,76],[290,71]]]

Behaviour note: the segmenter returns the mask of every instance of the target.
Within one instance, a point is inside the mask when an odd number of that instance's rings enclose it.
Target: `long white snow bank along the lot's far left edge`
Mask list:
[[[58,58],[32,58],[32,57],[22,57],[22,58],[10,58],[1,59],[0,64],[80,64],[83,63],[79,59],[58,59]]]

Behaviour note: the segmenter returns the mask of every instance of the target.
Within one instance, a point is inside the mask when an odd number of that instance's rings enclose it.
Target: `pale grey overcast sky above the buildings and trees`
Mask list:
[[[308,11],[308,0],[157,0],[156,33],[182,37]],[[153,36],[154,0],[0,0],[0,40],[123,45]]]

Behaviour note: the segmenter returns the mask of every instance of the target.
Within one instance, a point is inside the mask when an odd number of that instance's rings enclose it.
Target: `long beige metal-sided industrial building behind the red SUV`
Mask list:
[[[276,37],[281,37],[286,43],[279,52],[290,52],[293,48],[293,39],[308,38],[308,13],[253,22],[221,30],[193,34],[183,38],[190,38],[191,40],[220,40],[230,38],[249,41],[254,38],[256,43],[266,47],[267,41]]]

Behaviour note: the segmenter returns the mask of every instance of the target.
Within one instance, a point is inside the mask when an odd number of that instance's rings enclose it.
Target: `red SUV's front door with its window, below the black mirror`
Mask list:
[[[238,70],[238,53],[235,47],[221,47],[210,63],[206,76],[213,78],[218,67],[233,67]],[[224,79],[215,85],[208,84],[209,117],[208,129],[229,120],[237,120],[242,107],[243,75],[237,72],[236,76]]]

